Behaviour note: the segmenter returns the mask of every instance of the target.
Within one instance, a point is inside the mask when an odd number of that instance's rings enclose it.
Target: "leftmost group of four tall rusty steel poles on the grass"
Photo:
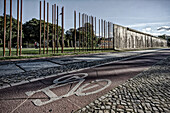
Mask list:
[[[19,56],[22,54],[22,0],[20,7],[20,23],[19,23],[19,1],[17,0],[17,53]],[[19,29],[20,24],[20,29]],[[20,34],[19,34],[20,30]],[[19,36],[20,35],[20,36]],[[10,38],[9,38],[9,56],[11,56],[11,43],[12,43],[12,0],[10,0]],[[6,0],[4,0],[4,40],[3,40],[3,56],[5,57],[6,48]],[[20,49],[20,50],[19,50]]]

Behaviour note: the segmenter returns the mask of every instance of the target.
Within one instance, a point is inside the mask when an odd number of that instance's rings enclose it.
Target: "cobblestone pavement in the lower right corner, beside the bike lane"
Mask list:
[[[76,113],[170,113],[170,57]]]

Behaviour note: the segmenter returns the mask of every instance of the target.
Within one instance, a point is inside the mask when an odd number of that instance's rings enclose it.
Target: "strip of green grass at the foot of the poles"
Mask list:
[[[152,48],[156,49],[156,48]],[[48,49],[48,54],[43,54],[43,48],[41,48],[41,54],[39,54],[39,49],[35,48],[23,48],[22,49],[22,56],[16,56],[16,49],[12,49],[12,55],[9,56],[9,50],[6,49],[5,57],[3,57],[3,50],[0,48],[0,60],[9,60],[9,59],[30,59],[30,58],[41,58],[41,57],[53,57],[53,56],[65,56],[65,55],[80,55],[80,54],[91,54],[91,53],[103,53],[103,52],[125,52],[125,51],[138,51],[138,50],[145,50],[145,49],[131,49],[131,50],[100,50],[97,48],[97,50],[94,49],[92,51],[91,49],[87,50],[80,50],[79,48],[76,48],[76,52],[74,52],[74,48],[64,48],[64,53],[61,53],[61,48],[59,48],[59,52],[52,53],[52,48]],[[146,49],[148,50],[148,49]]]

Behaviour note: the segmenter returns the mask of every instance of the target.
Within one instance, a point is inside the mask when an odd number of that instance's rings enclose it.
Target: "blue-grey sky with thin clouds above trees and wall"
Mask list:
[[[32,18],[39,19],[39,2],[40,0],[23,0],[23,23]],[[50,22],[52,21],[52,5],[57,4],[59,12],[61,12],[61,7],[64,6],[65,31],[73,28],[73,14],[76,10],[77,28],[78,13],[80,12],[89,16],[93,15],[97,18],[97,23],[98,19],[104,19],[156,36],[170,35],[170,0],[46,0],[46,2],[49,2],[50,5]],[[1,16],[4,12],[3,4],[4,0],[0,0]],[[10,0],[7,0],[7,14],[10,13],[9,9]],[[14,18],[17,16],[16,9],[17,0],[13,0]],[[61,17],[59,23],[61,23]]]

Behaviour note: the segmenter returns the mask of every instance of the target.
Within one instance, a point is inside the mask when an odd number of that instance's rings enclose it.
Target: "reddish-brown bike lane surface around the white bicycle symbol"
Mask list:
[[[158,54],[156,54],[158,55]],[[164,54],[165,55],[165,54]],[[164,56],[162,56],[163,58]],[[47,101],[48,98],[46,95],[43,95],[43,93],[40,94],[36,94],[32,97],[32,99],[28,99],[28,101],[26,101],[21,107],[19,107],[15,112],[26,112],[26,111],[30,111],[30,112],[40,112],[40,111],[46,111],[46,110],[50,110],[52,109],[52,111],[54,112],[70,112],[72,110],[76,110],[88,103],[90,103],[91,101],[95,100],[96,98],[102,96],[103,94],[105,94],[107,91],[109,91],[110,89],[116,87],[117,85],[123,83],[125,80],[127,80],[128,78],[131,78],[133,76],[135,76],[137,73],[140,73],[145,67],[145,69],[147,69],[153,62],[155,62],[155,60],[160,60],[162,59],[161,57],[157,58],[155,57],[153,59],[153,57],[151,57],[150,59],[152,59],[150,62],[145,61],[142,62],[142,60],[137,59],[137,63],[143,63],[140,66],[138,66],[138,64],[135,65],[135,62],[133,60],[128,60],[128,61],[122,61],[120,63],[113,63],[112,65],[107,65],[107,66],[101,66],[101,67],[97,67],[94,69],[88,69],[88,70],[83,70],[81,71],[81,73],[88,73],[88,77],[86,78],[86,81],[84,81],[84,84],[89,83],[90,81],[96,80],[96,79],[109,79],[112,81],[112,84],[110,87],[108,87],[107,89],[97,93],[97,94],[93,94],[93,95],[88,95],[88,96],[76,96],[76,95],[72,95],[69,96],[68,98],[62,98],[60,100],[57,100],[55,102],[52,102],[50,104],[41,106],[41,107],[36,107],[31,100],[35,100],[35,98],[44,98],[43,101]],[[146,60],[148,58],[145,58]],[[154,60],[154,61],[153,61]],[[146,63],[146,65],[144,65]],[[137,67],[138,66],[138,67]],[[135,70],[133,70],[135,67]],[[132,68],[132,69],[131,69]],[[96,72],[97,70],[97,72]],[[130,72],[128,72],[127,70],[129,70]],[[98,73],[98,74],[96,74]],[[125,74],[126,73],[126,74]],[[67,75],[67,74],[66,74]],[[64,75],[61,75],[64,76]],[[8,102],[3,102],[4,105],[2,106],[2,103],[0,105],[1,108],[4,108],[5,111],[12,111],[14,108],[16,108],[20,103],[22,103],[24,101],[24,99],[27,98],[27,95],[25,95],[25,92],[27,91],[34,91],[34,90],[38,90],[41,88],[45,88],[49,85],[52,84],[52,82],[58,77],[54,77],[54,78],[50,78],[50,79],[46,79],[46,80],[42,80],[41,82],[34,82],[32,84],[26,84],[26,85],[21,85],[21,86],[17,86],[17,87],[13,87],[13,88],[8,88],[8,89],[4,89],[4,90],[0,90],[0,98],[2,99],[2,97],[8,97],[11,100],[8,100]],[[106,83],[101,83],[103,84],[103,86]],[[70,91],[70,89],[72,89],[72,87],[74,87],[76,84],[72,84],[72,85],[67,85],[61,88],[57,88],[54,91],[54,93],[61,93],[65,94],[68,91]],[[66,90],[65,92],[63,92],[63,90]],[[21,98],[20,100],[17,100],[16,98]],[[13,99],[13,100],[12,100]],[[45,100],[46,99],[46,100]],[[74,103],[74,104],[73,104]],[[77,106],[76,106],[77,105]],[[6,107],[8,106],[8,107]],[[2,110],[2,109],[1,109]]]

